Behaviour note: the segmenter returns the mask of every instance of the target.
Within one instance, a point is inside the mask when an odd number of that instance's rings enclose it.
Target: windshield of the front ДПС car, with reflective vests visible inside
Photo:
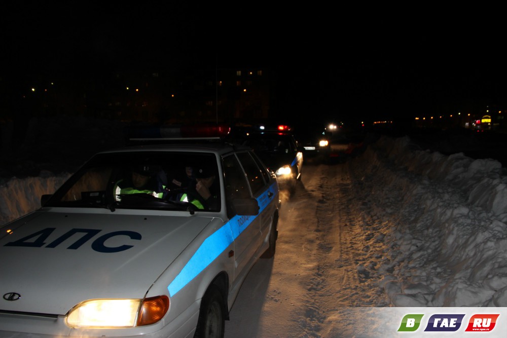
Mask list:
[[[46,202],[48,207],[220,210],[216,158],[197,152],[98,154]]]

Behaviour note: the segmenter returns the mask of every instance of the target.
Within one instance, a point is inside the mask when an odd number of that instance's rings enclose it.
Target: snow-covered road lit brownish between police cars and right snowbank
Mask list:
[[[352,182],[348,164],[304,168],[295,196],[282,198],[276,255],[251,270],[226,337],[343,334],[338,308],[381,306],[371,299],[371,288],[378,287],[372,276],[361,274],[368,262],[361,255],[365,234]]]

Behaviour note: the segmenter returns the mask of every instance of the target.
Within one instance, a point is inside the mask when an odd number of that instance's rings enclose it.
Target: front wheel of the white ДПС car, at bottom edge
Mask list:
[[[222,338],[225,330],[224,298],[219,288],[211,285],[199,309],[195,338]]]

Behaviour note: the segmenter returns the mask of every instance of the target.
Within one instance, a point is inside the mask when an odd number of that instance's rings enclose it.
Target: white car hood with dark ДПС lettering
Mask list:
[[[143,298],[210,217],[35,212],[0,237],[0,310],[64,315],[93,298]],[[7,301],[6,294],[20,295]]]

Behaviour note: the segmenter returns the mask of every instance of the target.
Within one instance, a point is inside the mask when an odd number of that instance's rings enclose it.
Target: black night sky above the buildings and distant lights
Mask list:
[[[3,79],[264,67],[283,79],[278,109],[295,114],[413,119],[506,104],[504,29],[494,9],[481,21],[453,11],[148,4],[7,6]]]

